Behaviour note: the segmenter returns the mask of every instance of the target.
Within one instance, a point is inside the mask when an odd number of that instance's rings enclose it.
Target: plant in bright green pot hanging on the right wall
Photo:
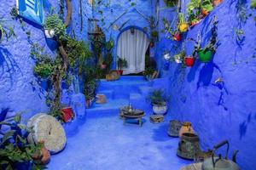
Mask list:
[[[194,52],[193,52],[193,56],[195,56],[195,54],[197,54],[199,59],[201,60],[201,62],[204,62],[204,63],[209,62],[212,59],[212,55],[216,51],[216,48],[218,46],[217,29],[218,29],[218,21],[216,19],[216,16],[214,16],[213,19],[212,19],[211,39],[204,48],[201,47],[201,36],[200,36],[201,34],[200,34],[200,32],[198,33],[198,37],[197,37],[196,41],[194,39],[190,38],[190,40],[193,40],[193,41],[196,42],[195,49],[194,49]]]

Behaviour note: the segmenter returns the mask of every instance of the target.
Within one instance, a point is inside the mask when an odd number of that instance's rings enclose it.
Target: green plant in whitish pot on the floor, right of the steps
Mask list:
[[[169,98],[166,96],[163,89],[154,89],[148,95],[148,100],[151,105],[153,105],[153,113],[157,115],[165,115],[168,110],[168,99]]]

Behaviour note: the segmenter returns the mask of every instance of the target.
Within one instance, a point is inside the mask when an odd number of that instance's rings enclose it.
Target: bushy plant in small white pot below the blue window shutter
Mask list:
[[[57,14],[50,14],[44,22],[44,34],[47,38],[64,36],[66,27]]]

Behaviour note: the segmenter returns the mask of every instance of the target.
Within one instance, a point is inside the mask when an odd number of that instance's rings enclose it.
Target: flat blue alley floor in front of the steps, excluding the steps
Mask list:
[[[178,139],[167,135],[166,121],[143,127],[119,119],[118,112],[88,115],[79,133],[51,156],[50,170],[178,170],[190,163],[176,156]]]

